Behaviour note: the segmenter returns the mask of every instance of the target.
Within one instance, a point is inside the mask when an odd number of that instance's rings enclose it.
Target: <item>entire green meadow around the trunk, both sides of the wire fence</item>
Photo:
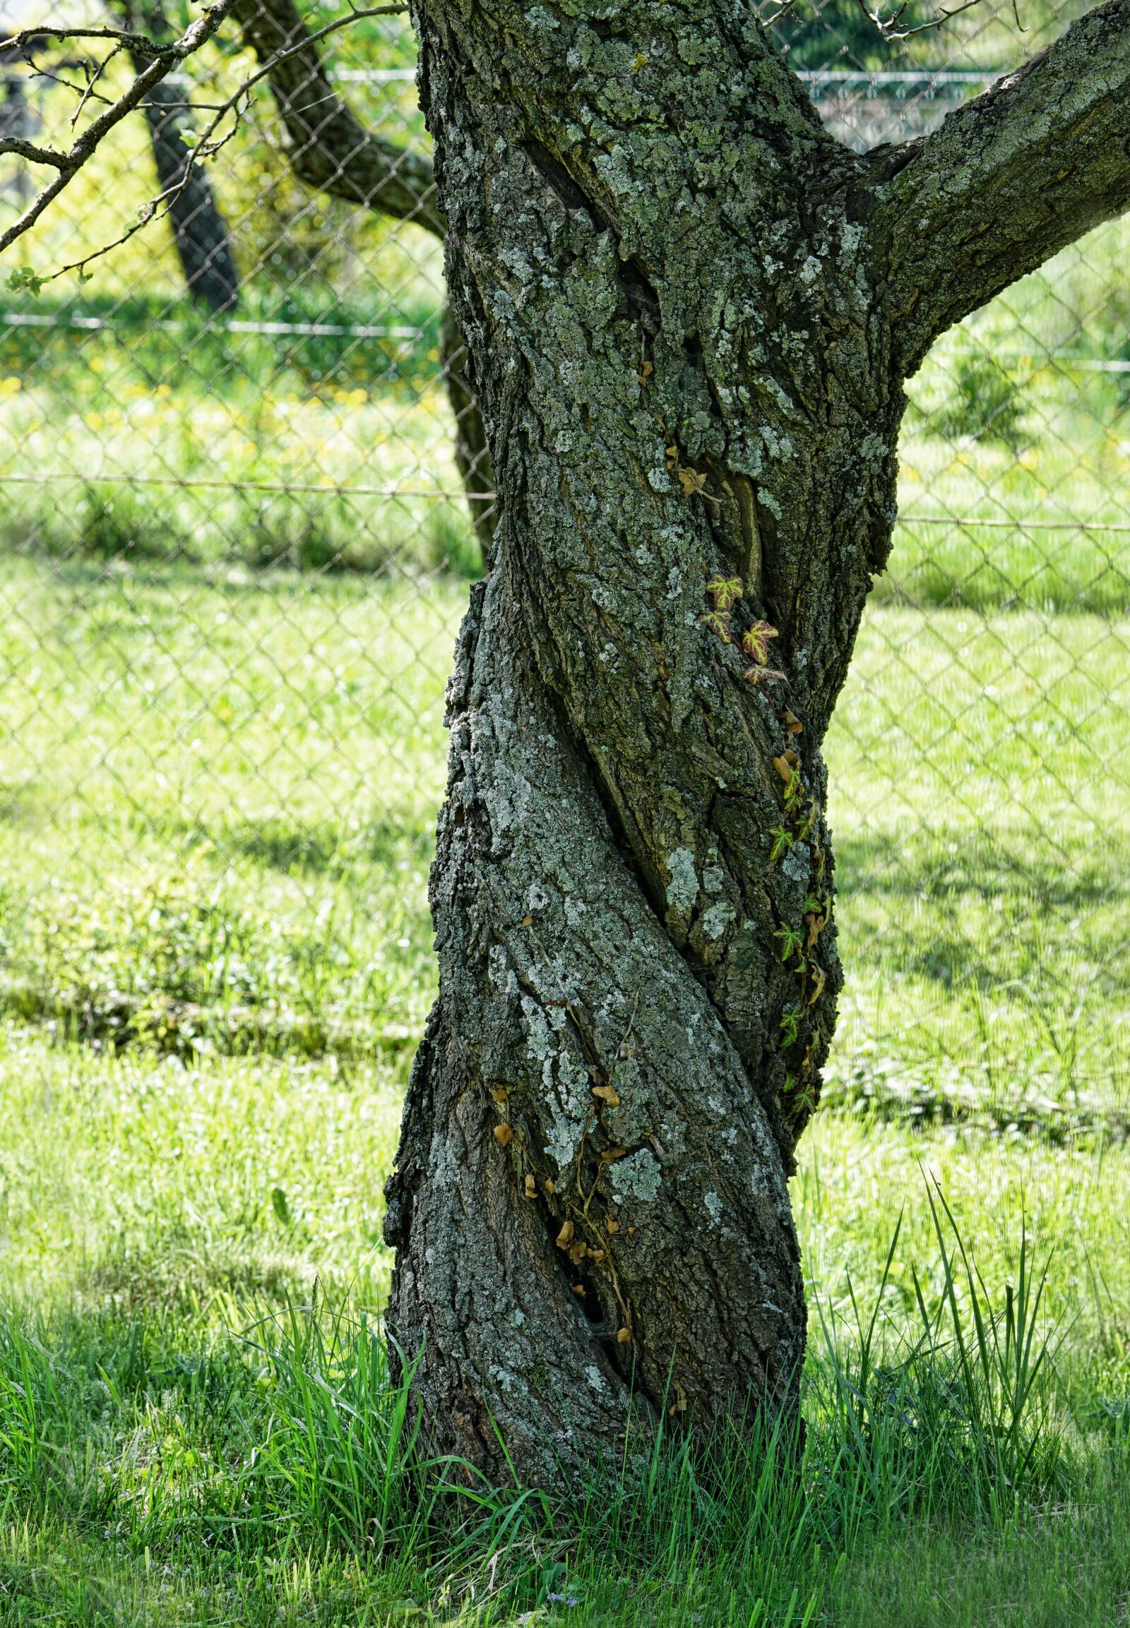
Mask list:
[[[480,557],[438,249],[252,137],[234,317],[142,239],[0,313],[0,1623],[1127,1623],[1128,230],[912,384],[827,741],[803,1451],[578,1504],[423,1462],[384,1366]]]

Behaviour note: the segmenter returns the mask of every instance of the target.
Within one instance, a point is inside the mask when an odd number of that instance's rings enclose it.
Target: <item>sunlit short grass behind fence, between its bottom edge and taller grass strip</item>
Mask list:
[[[7,1009],[182,1057],[410,1044],[464,589],[21,558],[3,594]],[[834,1101],[1125,1131],[1128,711],[1122,622],[873,607],[829,739]]]

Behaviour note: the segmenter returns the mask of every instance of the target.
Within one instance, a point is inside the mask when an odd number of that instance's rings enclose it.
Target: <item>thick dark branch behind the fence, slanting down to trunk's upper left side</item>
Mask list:
[[[236,0],[234,16],[259,60],[270,65],[267,77],[300,181],[443,238],[431,164],[353,117],[293,0]]]

